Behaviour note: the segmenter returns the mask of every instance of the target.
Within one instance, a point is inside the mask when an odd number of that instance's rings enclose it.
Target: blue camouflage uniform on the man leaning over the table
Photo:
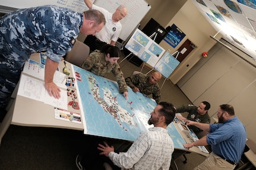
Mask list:
[[[18,9],[0,18],[0,107],[17,84],[31,53],[60,62],[77,39],[83,14],[55,5]]]

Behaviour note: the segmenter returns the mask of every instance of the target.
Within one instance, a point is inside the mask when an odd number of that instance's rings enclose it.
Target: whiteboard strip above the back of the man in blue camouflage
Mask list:
[[[77,12],[83,12],[89,9],[84,3],[84,0],[1,0],[1,5],[18,9],[41,5],[58,5],[59,7],[71,8]]]

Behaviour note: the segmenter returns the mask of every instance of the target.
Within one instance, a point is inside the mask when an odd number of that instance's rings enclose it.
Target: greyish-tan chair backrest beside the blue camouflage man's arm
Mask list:
[[[84,60],[89,56],[89,53],[90,47],[77,40],[71,51],[66,54],[65,60],[80,67]]]

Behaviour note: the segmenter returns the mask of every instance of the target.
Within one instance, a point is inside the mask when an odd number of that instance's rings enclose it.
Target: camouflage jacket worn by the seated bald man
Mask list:
[[[145,94],[145,95],[152,94],[153,99],[156,100],[157,103],[159,103],[161,100],[159,85],[157,83],[149,84],[148,78],[149,78],[149,75],[137,74],[137,75],[132,75],[128,78],[125,78],[125,81],[127,82],[127,85],[130,88],[134,88],[134,86],[136,86],[138,89],[140,89],[140,92],[142,94]]]

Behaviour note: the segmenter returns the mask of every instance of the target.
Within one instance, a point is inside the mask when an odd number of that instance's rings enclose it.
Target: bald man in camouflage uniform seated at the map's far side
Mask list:
[[[161,78],[162,74],[159,72],[153,72],[151,75],[138,73],[137,75],[125,78],[125,81],[132,91],[141,92],[145,95],[152,94],[153,99],[159,103],[161,101],[161,94],[157,82],[159,82]]]

